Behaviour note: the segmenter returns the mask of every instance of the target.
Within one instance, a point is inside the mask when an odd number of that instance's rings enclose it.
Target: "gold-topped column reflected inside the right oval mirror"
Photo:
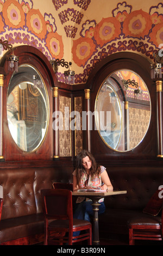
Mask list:
[[[124,101],[124,150],[129,149],[129,108],[128,101]]]

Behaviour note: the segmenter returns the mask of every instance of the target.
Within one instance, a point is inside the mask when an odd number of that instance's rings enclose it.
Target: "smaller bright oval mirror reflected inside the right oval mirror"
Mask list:
[[[122,111],[118,96],[108,83],[104,83],[99,90],[95,114],[102,138],[112,149],[116,149],[121,137]]]

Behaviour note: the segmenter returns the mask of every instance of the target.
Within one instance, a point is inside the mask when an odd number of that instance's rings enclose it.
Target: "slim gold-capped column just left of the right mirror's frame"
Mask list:
[[[85,110],[86,115],[86,136],[85,136],[85,149],[91,151],[91,132],[90,132],[90,89],[85,89]]]

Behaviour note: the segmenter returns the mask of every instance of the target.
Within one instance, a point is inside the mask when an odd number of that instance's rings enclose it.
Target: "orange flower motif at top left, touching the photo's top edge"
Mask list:
[[[15,0],[8,0],[3,4],[3,16],[6,25],[11,28],[20,28],[25,25],[24,11]]]

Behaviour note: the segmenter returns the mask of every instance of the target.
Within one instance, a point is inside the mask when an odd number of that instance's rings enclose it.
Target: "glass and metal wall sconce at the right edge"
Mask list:
[[[153,57],[155,58],[154,64],[151,64],[151,78],[162,78],[162,64],[163,64],[163,56],[160,54],[159,50],[156,53],[153,53]],[[163,50],[162,50],[163,51]]]

